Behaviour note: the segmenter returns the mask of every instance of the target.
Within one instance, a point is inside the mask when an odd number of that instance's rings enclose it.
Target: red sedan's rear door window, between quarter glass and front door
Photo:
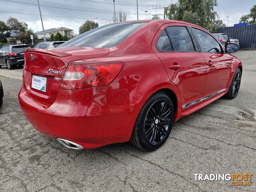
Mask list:
[[[186,27],[170,26],[166,28],[174,51],[195,51],[192,39]]]

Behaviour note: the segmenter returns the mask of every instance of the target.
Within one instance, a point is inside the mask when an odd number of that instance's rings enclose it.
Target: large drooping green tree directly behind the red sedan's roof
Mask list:
[[[217,0],[178,0],[165,9],[166,18],[185,21],[209,28],[210,23],[216,19],[214,6]]]

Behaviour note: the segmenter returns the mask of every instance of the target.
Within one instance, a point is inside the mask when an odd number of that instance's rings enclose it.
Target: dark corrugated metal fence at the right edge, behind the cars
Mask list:
[[[218,33],[226,33],[229,37],[239,39],[241,49],[256,49],[256,24],[224,27]]]

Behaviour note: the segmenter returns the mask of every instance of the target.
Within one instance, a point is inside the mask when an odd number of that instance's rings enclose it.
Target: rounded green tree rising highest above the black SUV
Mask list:
[[[18,36],[21,32],[26,32],[26,30],[28,30],[27,23],[19,22],[18,19],[13,17],[9,17],[6,24],[15,36]]]

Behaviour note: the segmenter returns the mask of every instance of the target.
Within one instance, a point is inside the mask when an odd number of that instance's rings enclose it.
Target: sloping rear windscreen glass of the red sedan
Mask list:
[[[136,30],[144,26],[145,22],[127,22],[104,25],[85,32],[59,47],[84,46],[110,48],[126,40]]]

